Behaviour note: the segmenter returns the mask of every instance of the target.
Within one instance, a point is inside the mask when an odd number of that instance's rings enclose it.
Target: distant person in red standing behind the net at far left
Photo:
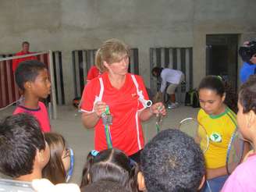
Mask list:
[[[22,50],[21,52],[17,52],[15,56],[20,56],[20,55],[27,55],[27,54],[32,54],[34,52],[30,52],[30,43],[27,41],[23,41],[22,43]],[[17,66],[19,66],[20,62],[27,61],[27,60],[37,60],[36,56],[28,56],[20,59],[13,59],[12,60],[12,72],[15,73],[15,70]]]

